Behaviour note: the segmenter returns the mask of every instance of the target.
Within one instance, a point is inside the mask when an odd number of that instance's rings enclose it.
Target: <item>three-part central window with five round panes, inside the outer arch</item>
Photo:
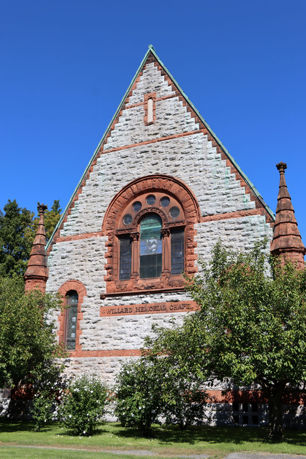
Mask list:
[[[142,193],[125,207],[116,232],[119,281],[180,276],[185,271],[185,215],[176,197]],[[176,279],[177,280],[177,279]]]

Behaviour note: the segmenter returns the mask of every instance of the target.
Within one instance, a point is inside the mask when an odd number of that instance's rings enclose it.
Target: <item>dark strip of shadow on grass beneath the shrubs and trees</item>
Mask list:
[[[41,432],[55,435],[55,430],[61,430],[59,422],[49,422],[43,426]],[[10,421],[0,419],[0,431],[7,433],[18,432],[34,432],[33,421]],[[141,440],[150,438],[159,441],[163,445],[175,443],[186,443],[194,445],[198,442],[207,442],[209,444],[218,445],[224,443],[227,445],[239,445],[243,443],[261,443],[262,445],[268,444],[281,444],[287,443],[289,445],[299,445],[306,447],[306,431],[286,429],[284,430],[284,440],[270,440],[267,438],[267,428],[264,427],[210,427],[210,426],[192,426],[187,430],[180,430],[177,426],[157,426],[151,427],[147,436],[144,436],[140,430],[133,427],[122,427],[119,423],[101,423],[92,435],[98,436],[103,433],[114,433],[122,440]],[[61,435],[71,436],[71,431],[65,429],[61,430]],[[74,436],[78,437],[78,436]]]

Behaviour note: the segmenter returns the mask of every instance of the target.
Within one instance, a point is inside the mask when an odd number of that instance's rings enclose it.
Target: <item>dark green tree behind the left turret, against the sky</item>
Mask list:
[[[0,276],[22,275],[32,247],[25,235],[34,213],[18,207],[15,199],[9,199],[3,210],[0,210]]]

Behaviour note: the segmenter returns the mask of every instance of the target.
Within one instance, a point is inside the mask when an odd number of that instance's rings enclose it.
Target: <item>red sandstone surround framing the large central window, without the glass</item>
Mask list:
[[[176,224],[184,224],[185,227],[185,272],[187,274],[193,274],[197,272],[197,268],[194,266],[194,260],[197,258],[194,254],[194,248],[196,243],[194,242],[194,223],[197,223],[200,219],[200,211],[197,199],[191,189],[184,184],[184,182],[172,177],[171,175],[165,174],[154,174],[140,177],[133,182],[125,185],[122,190],[114,196],[108,210],[106,211],[102,234],[108,236],[108,252],[106,253],[107,275],[104,277],[106,281],[107,293],[121,294],[123,292],[137,292],[137,291],[157,291],[167,288],[182,288],[184,287],[184,281],[182,276],[171,276],[170,269],[163,271],[161,277],[154,279],[140,279],[137,268],[135,275],[131,276],[129,281],[120,281],[118,274],[118,262],[119,262],[119,242],[117,237],[118,228],[120,225],[120,219],[126,210],[126,207],[130,205],[133,199],[142,199],[146,193],[165,193],[170,199],[175,199],[177,205],[182,208],[184,213],[184,221],[177,222]],[[147,210],[144,210],[147,212]],[[154,212],[158,212],[157,208],[152,209]],[[167,220],[166,214],[162,217],[163,228],[166,230],[168,227],[175,225],[175,223]],[[138,231],[139,218],[134,218],[132,226],[129,228],[129,234]],[[134,226],[133,226],[134,225]],[[168,230],[169,231],[169,230]],[[169,247],[168,247],[169,249]],[[165,252],[167,258],[166,263],[169,263],[169,255]],[[163,268],[164,269],[164,268]],[[166,272],[167,271],[167,272]]]

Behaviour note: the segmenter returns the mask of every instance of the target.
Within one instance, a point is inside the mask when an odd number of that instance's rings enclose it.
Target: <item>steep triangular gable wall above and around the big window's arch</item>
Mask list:
[[[150,94],[154,97],[155,121],[147,125],[146,95]],[[188,165],[184,164],[186,158]],[[142,163],[145,168],[139,167]],[[117,179],[114,174],[121,173],[122,165],[126,173]],[[194,184],[203,217],[239,211],[258,213],[256,209],[261,209],[267,222],[274,219],[257,189],[150,45],[50,238],[48,253],[54,238],[100,231],[109,202],[124,184],[147,173],[168,173],[169,169],[179,179]],[[195,174],[201,176],[196,180]],[[96,200],[100,187],[106,191],[104,202],[92,205],[89,212],[88,201]],[[94,222],[89,215],[92,211]],[[82,228],[80,221],[85,222]]]

